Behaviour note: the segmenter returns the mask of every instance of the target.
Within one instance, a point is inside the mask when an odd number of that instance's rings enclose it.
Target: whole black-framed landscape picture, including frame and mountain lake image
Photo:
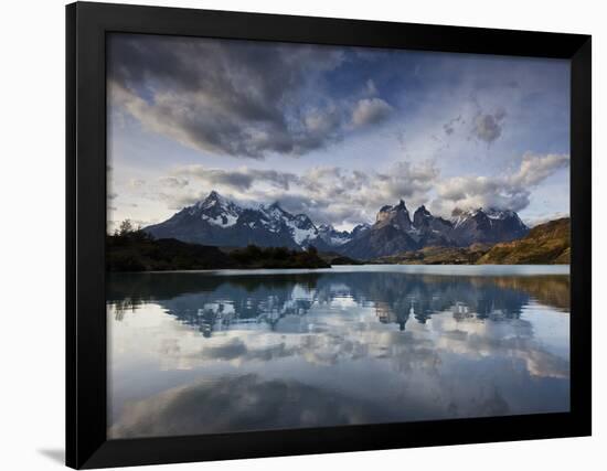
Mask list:
[[[66,26],[70,467],[590,433],[590,36]]]

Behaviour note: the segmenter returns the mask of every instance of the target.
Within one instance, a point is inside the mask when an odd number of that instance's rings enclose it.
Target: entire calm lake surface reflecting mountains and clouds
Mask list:
[[[111,275],[109,436],[566,411],[568,267]]]

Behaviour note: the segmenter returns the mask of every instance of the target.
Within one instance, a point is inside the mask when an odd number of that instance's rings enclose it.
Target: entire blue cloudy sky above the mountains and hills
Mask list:
[[[558,60],[114,34],[108,217],[216,190],[338,228],[400,199],[534,224],[569,211],[568,90]]]

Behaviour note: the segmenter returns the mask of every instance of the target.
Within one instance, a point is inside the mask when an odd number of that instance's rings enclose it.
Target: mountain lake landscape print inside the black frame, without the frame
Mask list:
[[[118,34],[108,437],[569,410],[569,63]]]

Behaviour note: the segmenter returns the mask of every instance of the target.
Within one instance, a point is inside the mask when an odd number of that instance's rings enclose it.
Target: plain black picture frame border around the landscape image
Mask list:
[[[571,61],[571,411],[188,437],[106,438],[106,34],[249,39]],[[66,463],[72,468],[588,436],[589,35],[76,2],[66,7]]]

